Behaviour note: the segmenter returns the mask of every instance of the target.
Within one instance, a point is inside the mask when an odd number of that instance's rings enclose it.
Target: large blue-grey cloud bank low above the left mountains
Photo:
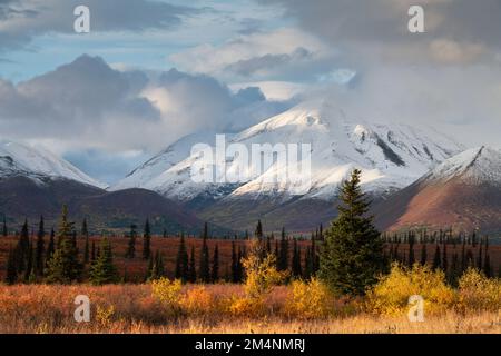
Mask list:
[[[0,79],[1,135],[72,152],[84,164],[90,156],[151,154],[195,131],[239,129],[282,108],[258,88],[234,93],[209,76],[175,69],[118,71],[86,55],[18,85]]]

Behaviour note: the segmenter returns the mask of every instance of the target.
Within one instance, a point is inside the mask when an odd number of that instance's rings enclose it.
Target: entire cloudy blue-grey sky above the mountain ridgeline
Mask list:
[[[76,33],[73,9],[90,9]],[[501,1],[0,0],[0,138],[112,184],[308,97],[500,147]]]

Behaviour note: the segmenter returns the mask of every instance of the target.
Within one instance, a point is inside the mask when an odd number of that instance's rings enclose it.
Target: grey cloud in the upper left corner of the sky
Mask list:
[[[72,33],[73,9],[80,4],[79,0],[0,1],[0,50],[21,48],[36,36]],[[204,11],[151,0],[86,0],[85,4],[92,32],[170,29]]]

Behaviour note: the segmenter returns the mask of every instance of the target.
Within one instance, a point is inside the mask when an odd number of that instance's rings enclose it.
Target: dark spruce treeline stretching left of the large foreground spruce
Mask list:
[[[6,220],[2,221],[1,233],[8,236]],[[90,238],[87,219],[81,226],[68,219],[68,209],[63,207],[58,227],[47,229],[43,217],[40,217],[38,229],[31,229],[24,221],[20,231],[16,233],[17,241],[11,244],[7,259],[7,284],[72,284],[91,283],[104,285],[112,283],[144,283],[160,277],[175,277],[184,283],[240,283],[245,278],[242,264],[246,257],[246,243],[253,237],[258,238],[265,246],[267,254],[276,255],[276,268],[288,271],[291,279],[310,279],[320,269],[320,245],[323,240],[323,227],[320,226],[308,237],[292,236],[285,228],[279,234],[265,234],[261,221],[254,234],[245,233],[229,238],[215,238],[209,234],[205,224],[199,236],[178,234],[176,250],[154,249],[151,245],[151,228],[149,220],[138,228],[131,225],[126,237],[125,253],[112,250],[116,236],[102,236],[99,240]],[[167,234],[157,238],[170,238]],[[222,260],[218,245],[220,240],[232,246],[230,259]],[[200,245],[197,248],[195,245]],[[208,240],[214,240],[208,244]],[[114,243],[114,244],[111,244]],[[209,247],[210,245],[210,247]],[[176,255],[175,265],[166,264],[164,254]],[[169,255],[169,256],[171,256]],[[121,259],[118,267],[115,259]],[[141,266],[131,274],[127,266]],[[139,274],[139,275],[138,275]]]

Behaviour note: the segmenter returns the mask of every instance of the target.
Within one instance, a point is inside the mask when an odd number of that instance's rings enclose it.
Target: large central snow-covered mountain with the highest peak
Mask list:
[[[208,135],[205,142],[215,151],[215,135]],[[333,217],[337,186],[353,168],[362,169],[364,189],[377,199],[409,186],[463,149],[430,128],[361,119],[323,99],[303,102],[226,136],[226,147],[230,144],[244,145],[249,152],[256,144],[310,144],[311,187],[297,194],[297,187],[291,181],[274,179],[277,172],[287,169],[286,164],[276,159],[261,171],[252,166],[246,168],[237,182],[195,182],[190,175],[196,166],[215,168],[219,174],[239,168],[234,157],[226,157],[212,167],[197,152],[160,174],[158,169],[145,176],[139,186],[181,201],[204,219],[233,228],[250,227],[258,218],[268,219],[271,225],[281,220],[297,228],[310,228],[320,217]],[[322,208],[315,210],[315,204]],[[236,211],[243,216],[237,217]],[[302,215],[302,211],[311,212]]]

